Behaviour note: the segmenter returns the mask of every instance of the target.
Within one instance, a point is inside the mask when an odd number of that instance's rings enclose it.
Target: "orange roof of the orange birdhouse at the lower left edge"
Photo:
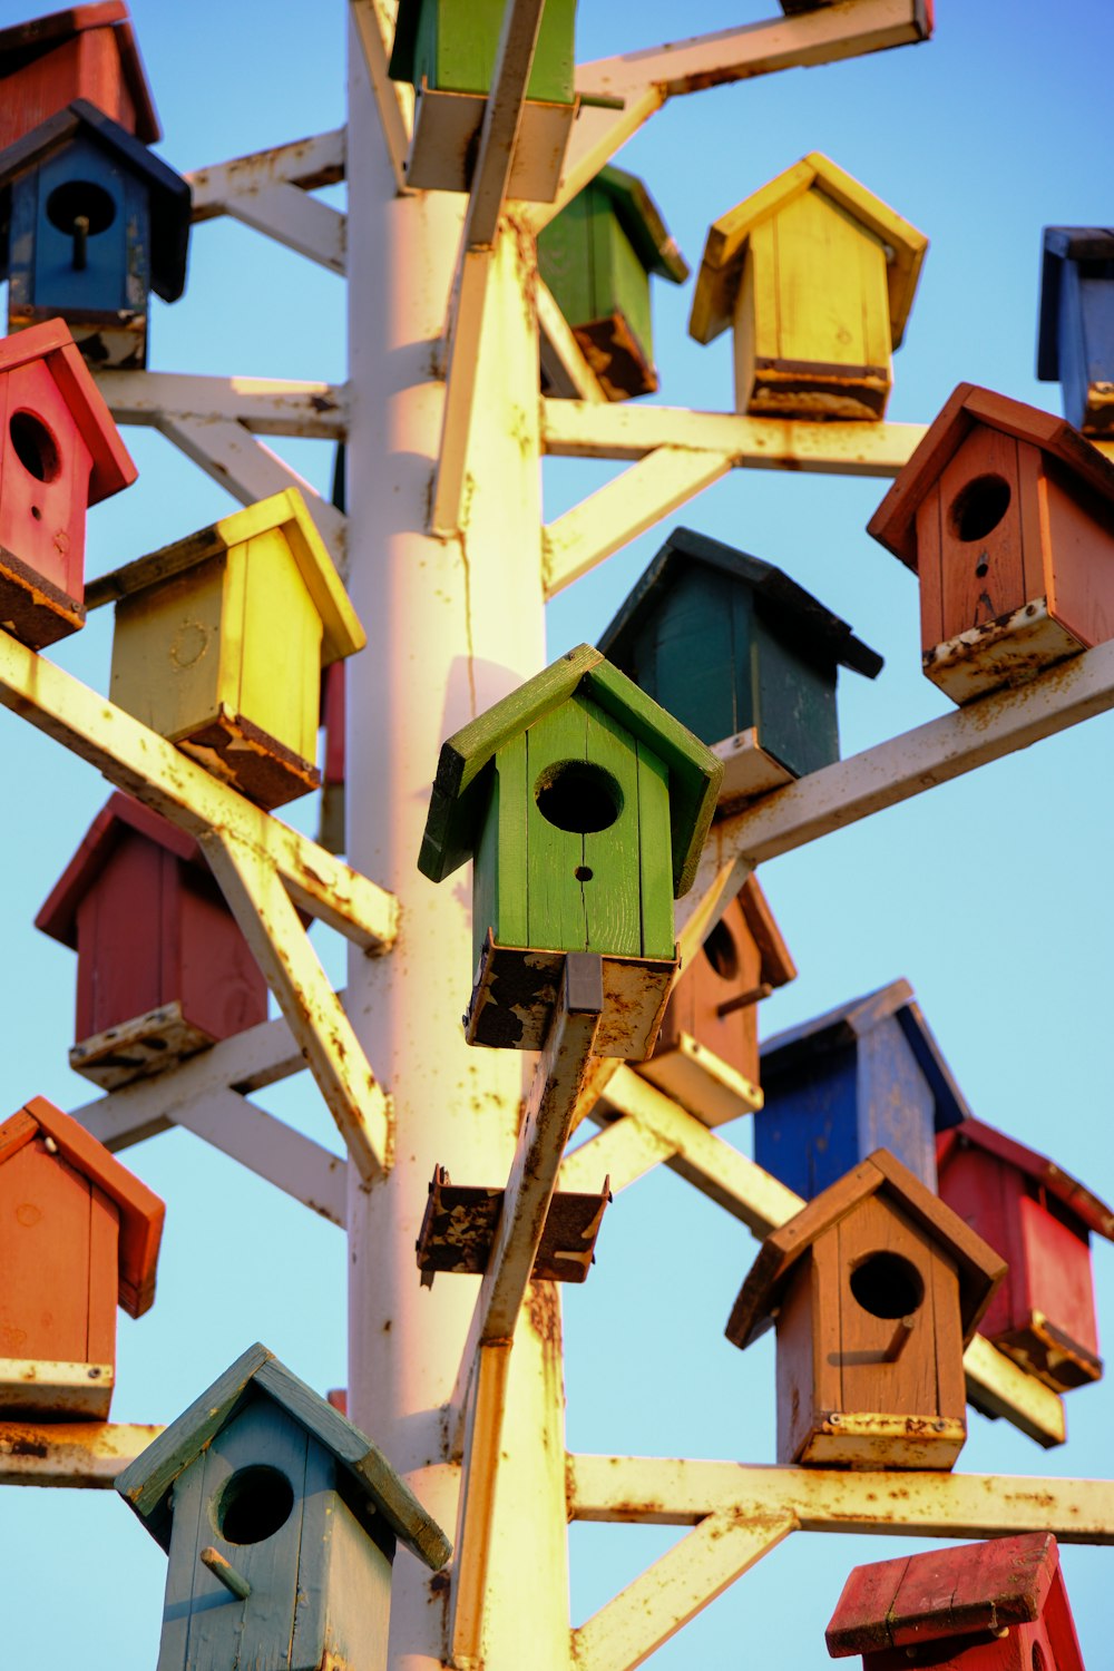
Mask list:
[[[142,1317],[155,1298],[155,1267],[162,1240],[165,1206],[159,1196],[110,1155],[72,1115],[32,1096],[18,1113],[0,1126],[0,1166],[38,1133],[53,1138],[62,1160],[94,1183],[120,1213],[119,1270],[120,1305],[129,1317]]]

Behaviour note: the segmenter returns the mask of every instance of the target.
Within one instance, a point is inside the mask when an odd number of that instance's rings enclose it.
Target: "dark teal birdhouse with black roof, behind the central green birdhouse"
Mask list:
[[[722,802],[838,760],[835,677],[882,657],[780,568],[675,528],[600,648],[725,762]]]

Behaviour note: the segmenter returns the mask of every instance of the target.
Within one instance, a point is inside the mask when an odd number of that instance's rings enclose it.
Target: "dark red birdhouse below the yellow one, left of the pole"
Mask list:
[[[115,794],[35,917],[77,951],[70,1066],[104,1089],[267,1019],[267,983],[192,837]]]

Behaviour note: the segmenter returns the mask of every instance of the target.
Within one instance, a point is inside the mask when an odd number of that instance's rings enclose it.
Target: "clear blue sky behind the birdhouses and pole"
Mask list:
[[[581,0],[578,57],[763,17],[762,0]],[[162,115],[160,154],[187,170],[344,122],[344,0],[241,0],[189,8],[134,0]],[[25,10],[3,0],[0,22]],[[1036,383],[1041,229],[1106,224],[1114,12],[1107,0],[939,0],[937,35],[850,63],[793,70],[675,100],[620,155],[645,175],[690,266],[706,226],[810,150],[822,150],[930,237],[894,419],[929,421],[959,381],[1059,411]],[[342,189],[331,194],[342,201]],[[730,346],[686,336],[691,281],[656,286],[656,399],[730,408]],[[342,281],[225,222],[195,229],[174,307],[155,304],[154,369],[344,376]],[[90,575],[230,508],[160,436],[129,431],[139,483],[89,523]],[[327,490],[331,448],[276,443]],[[546,466],[549,516],[610,466]],[[885,483],[737,471],[551,608],[549,652],[595,638],[681,521],[778,563],[852,622],[887,660],[845,675],[843,754],[947,712],[919,665],[912,575],[865,535]],[[107,612],[104,612],[107,613]],[[107,688],[110,625],[94,618],[57,660]],[[52,652],[53,653],[53,652]],[[1111,754],[1097,719],[937,789],[762,872],[800,969],[762,1013],[763,1036],[879,988],[912,981],[974,1111],[1114,1198],[1111,1120]],[[0,934],[0,1115],[42,1093],[90,1095],[67,1068],[73,957],[32,919],[104,804],[105,784],[0,712],[5,765]],[[431,762],[433,770],[433,762]],[[316,807],[291,809],[306,829]],[[329,947],[341,978],[342,957]],[[466,979],[466,976],[463,976]],[[307,1076],[266,1106],[336,1146]],[[727,1135],[748,1151],[740,1121]],[[169,1420],[249,1342],[264,1340],[319,1389],[344,1384],[344,1238],[184,1131],[127,1153],[169,1203],[155,1308],[120,1318],[115,1420]],[[770,1342],[723,1340],[755,1243],[671,1173],[610,1210],[598,1263],[566,1292],[571,1450],[773,1460]],[[1107,1343],[1114,1255],[1096,1248]],[[1069,1395],[1069,1442],[1041,1452],[1005,1424],[970,1417],[960,1469],[1111,1475],[1109,1384]],[[673,1532],[575,1527],[580,1623],[668,1546]],[[892,1539],[793,1536],[666,1646],[655,1666],[827,1663],[823,1628],[852,1566],[909,1549]],[[915,1546],[914,1546],[915,1547]],[[165,1559],[114,1494],[0,1494],[2,1664],[154,1666]],[[1064,1554],[1084,1656],[1109,1658],[1111,1556]]]

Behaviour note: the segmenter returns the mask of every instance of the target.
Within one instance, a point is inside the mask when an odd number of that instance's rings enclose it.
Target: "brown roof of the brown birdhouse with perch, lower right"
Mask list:
[[[932,1190],[927,1190],[909,1166],[889,1150],[875,1150],[862,1165],[838,1178],[765,1238],[728,1318],[725,1333],[733,1345],[748,1347],[770,1327],[790,1272],[802,1253],[873,1195],[890,1198],[894,1206],[912,1218],[940,1252],[955,1262],[964,1343],[970,1340],[1005,1275],[1005,1260]]]

